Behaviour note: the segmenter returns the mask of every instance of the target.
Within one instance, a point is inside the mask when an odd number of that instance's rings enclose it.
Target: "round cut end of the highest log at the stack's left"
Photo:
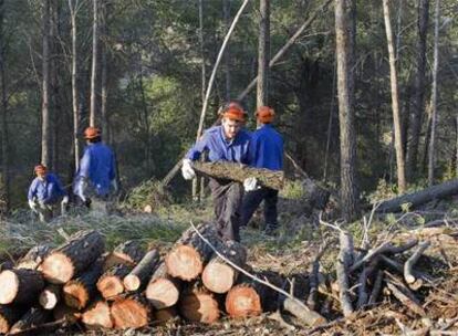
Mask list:
[[[74,275],[73,262],[65,254],[53,252],[41,264],[44,279],[53,284],[64,284]]]

